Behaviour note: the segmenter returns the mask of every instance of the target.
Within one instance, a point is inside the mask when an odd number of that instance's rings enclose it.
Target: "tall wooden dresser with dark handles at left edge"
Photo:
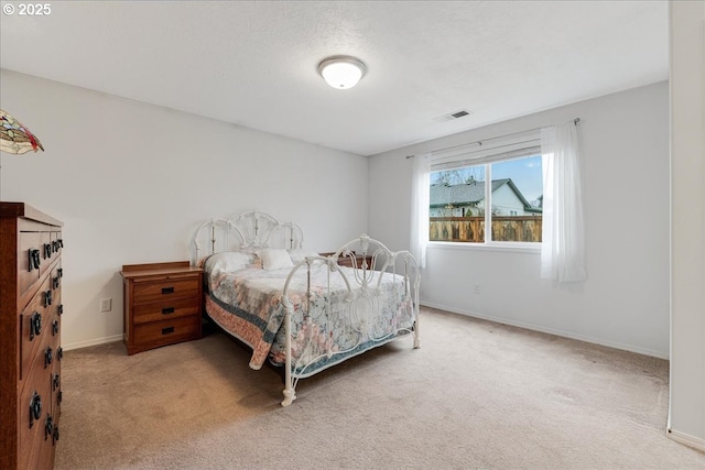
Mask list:
[[[61,415],[62,226],[0,203],[0,469],[51,469]]]

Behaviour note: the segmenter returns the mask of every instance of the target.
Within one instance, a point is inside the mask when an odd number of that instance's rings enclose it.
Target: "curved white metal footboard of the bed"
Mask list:
[[[341,267],[341,259],[349,259],[351,267]],[[362,260],[359,264],[358,259]],[[322,269],[327,272],[326,285],[312,285],[313,271]],[[294,303],[290,286],[302,270],[305,270],[306,292],[303,299]],[[345,305],[337,306],[337,310],[341,309],[344,315],[343,318],[336,317],[335,321],[349,329],[351,338],[351,342],[344,349],[332,341],[324,341],[322,345],[322,331],[316,329],[322,317],[334,311],[332,280],[336,276],[343,281],[345,288],[335,295]],[[411,334],[414,349],[420,348],[419,287],[419,265],[411,253],[392,252],[383,243],[366,234],[349,241],[329,256],[310,255],[299,262],[289,274],[282,294],[285,315],[285,387],[282,406],[291,405],[296,398],[295,389],[300,379],[384,345],[403,334]],[[391,303],[380,302],[384,293],[392,296]],[[296,308],[301,309],[299,317],[303,318],[303,324],[294,328]],[[388,318],[389,325],[386,324]],[[400,319],[402,321],[398,323]],[[328,321],[324,324],[327,325]],[[299,347],[296,357],[292,353],[294,335]],[[318,364],[315,371],[310,372],[308,368],[319,361],[326,363],[323,367]]]

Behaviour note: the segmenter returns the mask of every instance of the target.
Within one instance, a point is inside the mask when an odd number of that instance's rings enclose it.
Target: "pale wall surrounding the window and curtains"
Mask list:
[[[409,247],[406,155],[581,118],[588,280],[541,280],[540,253],[434,245],[422,302],[447,310],[669,357],[668,83],[449,135],[370,160],[370,234]],[[480,293],[475,294],[479,284]]]

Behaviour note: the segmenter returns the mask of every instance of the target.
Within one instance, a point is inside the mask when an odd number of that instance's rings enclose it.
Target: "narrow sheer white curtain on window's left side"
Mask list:
[[[426,267],[429,244],[429,194],[431,182],[431,154],[414,155],[411,181],[411,254],[421,267]]]

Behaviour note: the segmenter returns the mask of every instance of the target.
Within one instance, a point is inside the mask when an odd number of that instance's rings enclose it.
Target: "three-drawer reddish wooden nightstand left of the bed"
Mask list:
[[[188,261],[122,266],[128,354],[199,339],[203,270]]]

